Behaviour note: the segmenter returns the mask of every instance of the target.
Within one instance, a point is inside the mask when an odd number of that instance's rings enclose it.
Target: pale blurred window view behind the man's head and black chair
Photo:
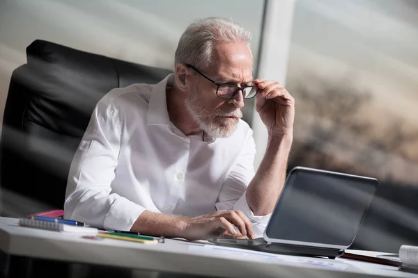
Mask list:
[[[173,70],[185,28],[195,19],[219,16],[251,31],[257,62],[263,8],[263,1],[257,0],[0,0],[0,107],[10,76],[26,63],[25,49],[33,40]],[[248,112],[247,119],[251,109]]]

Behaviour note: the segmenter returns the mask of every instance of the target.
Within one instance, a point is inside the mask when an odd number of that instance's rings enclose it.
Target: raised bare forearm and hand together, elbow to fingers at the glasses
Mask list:
[[[279,83],[254,80],[258,86],[256,111],[268,130],[267,148],[246,191],[254,215],[271,213],[286,180],[288,156],[293,142],[295,99]]]

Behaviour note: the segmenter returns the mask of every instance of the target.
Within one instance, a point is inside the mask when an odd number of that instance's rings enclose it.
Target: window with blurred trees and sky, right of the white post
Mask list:
[[[415,1],[296,2],[291,165],[418,184]]]

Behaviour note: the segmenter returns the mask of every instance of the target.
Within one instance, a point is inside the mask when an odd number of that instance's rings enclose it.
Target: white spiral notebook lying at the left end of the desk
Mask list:
[[[98,229],[96,228],[72,226],[72,225],[58,223],[58,222],[33,220],[30,218],[20,218],[19,225],[22,227],[45,229],[49,231],[61,231],[61,232],[68,232],[68,233],[80,233],[80,234],[97,234],[98,233]]]

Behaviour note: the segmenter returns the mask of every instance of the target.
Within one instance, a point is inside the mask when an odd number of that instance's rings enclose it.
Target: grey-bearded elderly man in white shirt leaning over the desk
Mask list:
[[[189,240],[261,236],[286,177],[295,101],[253,79],[249,31],[228,19],[191,24],[175,73],[111,90],[95,107],[70,167],[65,218]],[[268,129],[255,145],[244,99]]]

